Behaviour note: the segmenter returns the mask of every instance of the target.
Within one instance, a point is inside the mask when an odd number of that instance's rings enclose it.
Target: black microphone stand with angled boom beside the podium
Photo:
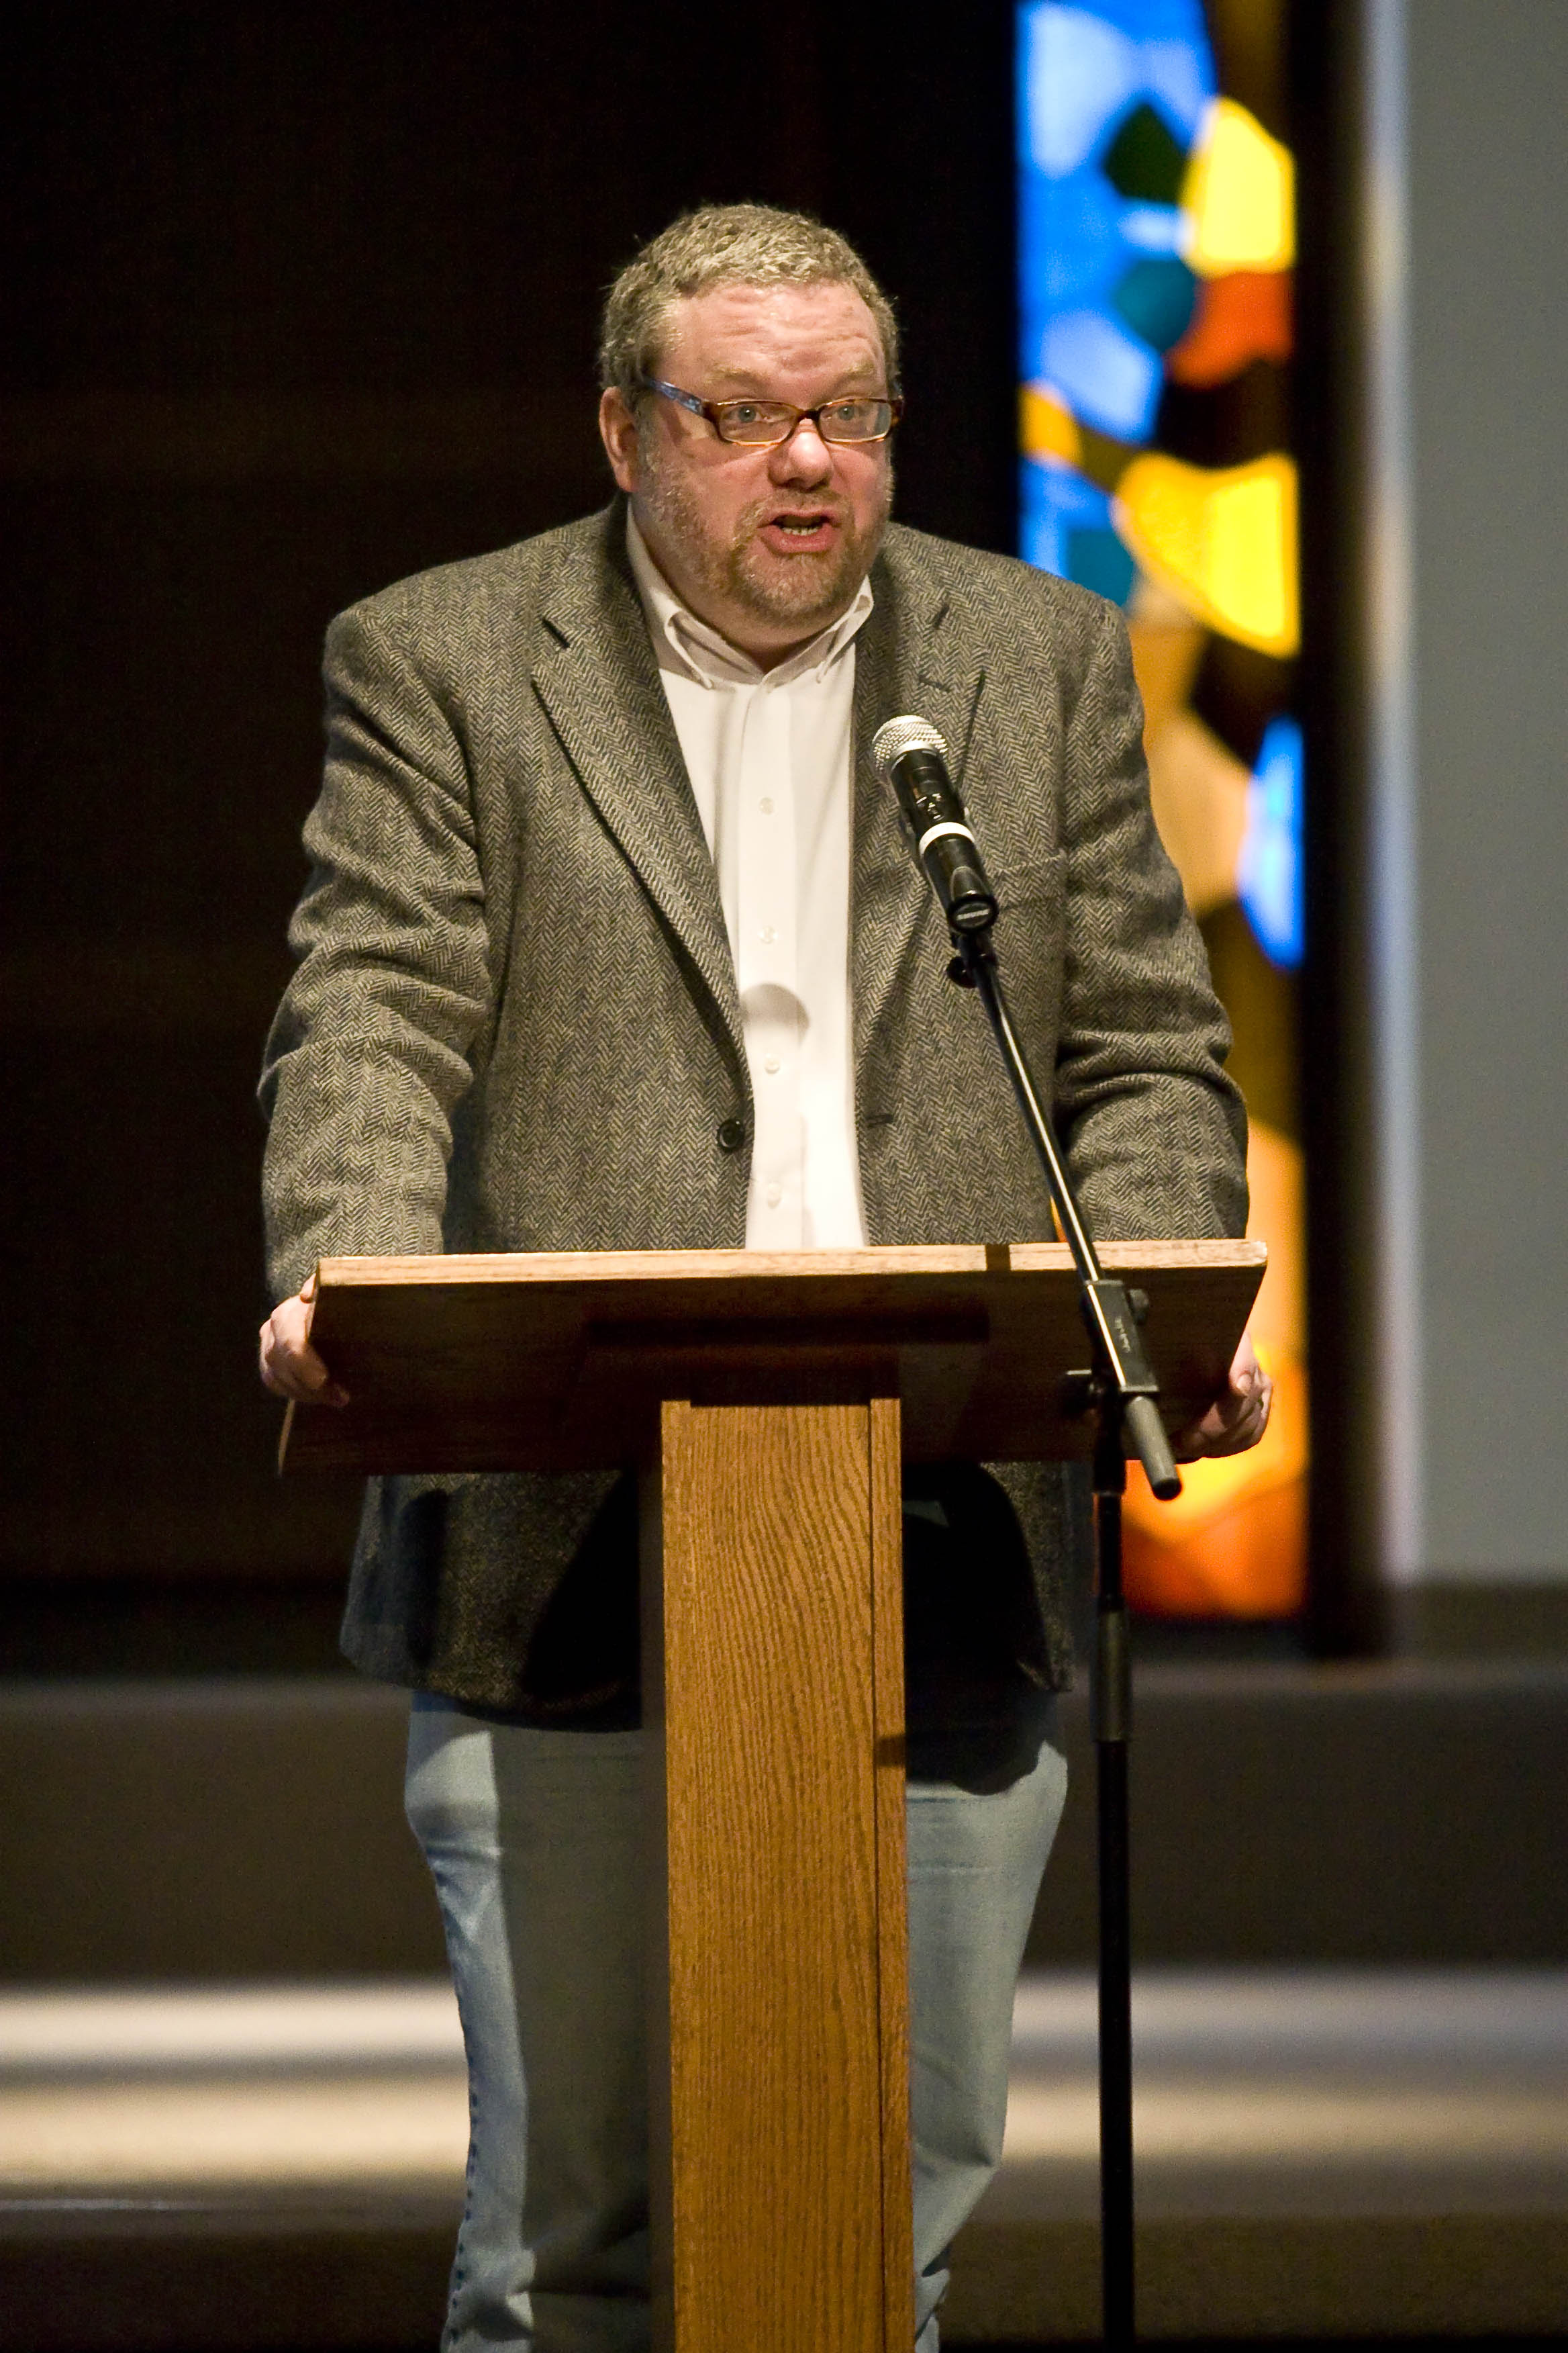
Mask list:
[[[1143,1346],[1143,1292],[1100,1271],[1079,1212],[1051,1115],[1034,1092],[1018,1045],[992,946],[994,911],[973,927],[950,925],[957,955],[947,976],[973,988],[985,1005],[997,1047],[1013,1082],[1025,1127],[1041,1158],[1051,1202],[1079,1275],[1093,1367],[1077,1381],[1084,1407],[1098,1414],[1093,1447],[1095,1494],[1095,1657],[1091,1727],[1095,1741],[1098,1882],[1100,1882],[1100,2292],[1105,2344],[1133,2341],[1133,1988],[1128,1908],[1128,1739],[1133,1678],[1126,1600],[1121,1593],[1121,1497],[1126,1442],[1143,1461],[1157,1497],[1180,1494],[1180,1473],[1159,1419],[1159,1384]]]

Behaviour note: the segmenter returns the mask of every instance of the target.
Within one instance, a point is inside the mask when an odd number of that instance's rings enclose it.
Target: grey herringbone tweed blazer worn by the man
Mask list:
[[[872,1242],[1053,1231],[987,1024],[945,979],[931,889],[870,760],[903,711],[952,751],[1001,899],[1013,1016],[1091,1228],[1241,1233],[1229,1040],[1150,816],[1121,616],[903,527],[872,591],[851,873]],[[299,967],[261,1080],[275,1294],[329,1254],[743,1247],[736,974],[621,501],[355,605],[331,624],[324,680]],[[997,1475],[1032,1553],[1041,1673],[1063,1680],[1077,1489],[1044,1466]],[[475,1706],[548,1713],[529,1661],[614,1485],[611,1468],[371,1480],[348,1654]]]

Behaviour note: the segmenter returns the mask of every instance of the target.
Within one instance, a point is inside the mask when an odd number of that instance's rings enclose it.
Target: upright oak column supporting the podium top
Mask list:
[[[665,1405],[646,1671],[670,2353],[912,2341],[898,1541],[896,1402]]]

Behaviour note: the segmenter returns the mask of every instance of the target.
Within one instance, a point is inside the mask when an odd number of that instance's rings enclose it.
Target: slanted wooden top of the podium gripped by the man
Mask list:
[[[1175,1426],[1201,1412],[1262,1280],[1260,1242],[1105,1242],[1150,1294]],[[1058,1242],[990,1249],[322,1259],[313,1339],[350,1405],[289,1409],[287,1471],[574,1471],[646,1459],[663,1398],[903,1402],[910,1461],[1086,1454],[1088,1360]]]

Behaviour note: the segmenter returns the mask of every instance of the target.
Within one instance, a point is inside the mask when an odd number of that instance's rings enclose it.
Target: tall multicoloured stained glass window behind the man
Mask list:
[[[1018,7],[1020,553],[1126,609],[1154,819],[1237,1035],[1251,1233],[1269,1245],[1267,1438],[1194,1464],[1175,1504],[1133,1475],[1128,1593],[1173,1617],[1286,1617],[1307,1572],[1281,75],[1274,0]]]

